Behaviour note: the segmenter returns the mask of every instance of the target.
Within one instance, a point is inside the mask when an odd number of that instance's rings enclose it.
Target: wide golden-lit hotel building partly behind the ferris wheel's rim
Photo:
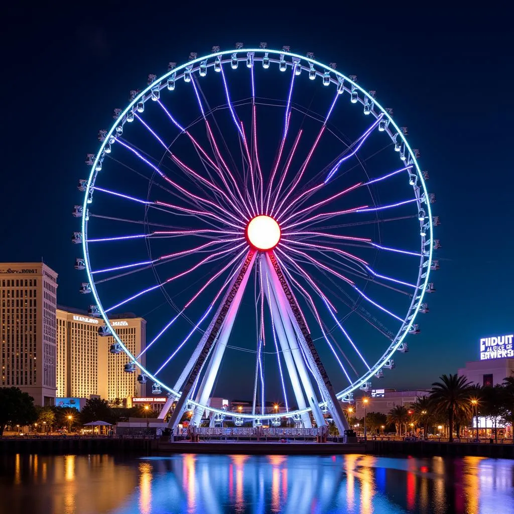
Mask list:
[[[133,355],[139,355],[146,343],[146,321],[133,314],[113,316],[111,324]],[[126,373],[125,353],[113,354],[112,336],[100,336],[102,319],[85,311],[59,306],[57,309],[57,396],[88,398],[99,395],[109,401],[126,402],[144,396],[145,388],[137,381],[138,373]],[[144,365],[144,354],[142,356]],[[130,400],[129,400],[130,401]]]

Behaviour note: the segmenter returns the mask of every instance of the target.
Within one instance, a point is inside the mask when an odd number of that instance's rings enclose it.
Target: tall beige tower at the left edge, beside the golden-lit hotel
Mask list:
[[[36,405],[56,397],[57,276],[41,262],[0,264],[0,386],[20,388]]]

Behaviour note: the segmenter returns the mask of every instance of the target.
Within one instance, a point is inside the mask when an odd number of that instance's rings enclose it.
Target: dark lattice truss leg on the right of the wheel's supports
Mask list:
[[[280,269],[277,259],[272,252],[266,253],[266,261],[268,263],[268,267],[271,266],[275,271],[275,273],[271,273],[271,277],[274,283],[274,291],[276,291],[276,293],[280,293],[277,295],[277,302],[279,305],[283,303],[286,313],[288,314],[288,317],[297,334],[298,341],[302,345],[303,351],[308,359],[310,368],[313,370],[316,376],[316,381],[318,382],[321,391],[323,391],[323,396],[325,397],[325,400],[328,404],[328,410],[334,419],[334,423],[339,430],[339,434],[343,435],[344,430],[347,430],[350,428],[350,426],[348,425],[348,421],[344,416],[341,404],[336,398],[336,392],[334,391],[332,382],[328,378],[328,375],[325,371],[325,366],[323,366],[323,362],[318,355],[316,346],[314,345],[307,326],[305,325],[305,322],[303,321],[303,318],[300,314],[300,309],[296,304],[295,298],[292,296],[289,285],[282,273],[282,270]],[[313,414],[315,414],[314,410]],[[318,426],[320,425],[318,424]]]

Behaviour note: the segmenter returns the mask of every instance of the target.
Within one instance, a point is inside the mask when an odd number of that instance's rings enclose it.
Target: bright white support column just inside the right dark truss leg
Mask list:
[[[310,382],[309,376],[307,374],[307,368],[305,366],[305,362],[303,360],[302,353],[300,351],[300,347],[298,346],[297,338],[295,336],[295,331],[293,331],[291,321],[289,319],[289,315],[287,313],[286,307],[285,307],[285,300],[283,298],[283,292],[282,287],[279,284],[277,284],[276,280],[276,273],[273,269],[273,266],[271,266],[271,263],[269,261],[268,255],[266,254],[266,267],[269,279],[271,281],[271,291],[274,296],[274,300],[276,302],[276,305],[278,307],[278,321],[283,325],[283,329],[285,332],[286,340],[288,341],[288,349],[290,352],[290,355],[292,359],[295,361],[296,367],[298,369],[298,374],[300,375],[300,380],[303,385],[303,389],[305,391],[305,395],[307,396],[307,401],[309,403],[310,409],[313,412],[314,419],[316,421],[316,424],[318,427],[323,427],[326,425],[325,418],[323,417],[323,413],[321,412],[321,409],[318,405],[318,401],[316,399],[316,394],[314,393],[313,386]],[[278,289],[277,289],[278,287]],[[275,318],[273,313],[273,318]],[[276,318],[277,319],[277,318]],[[277,321],[275,321],[277,324]],[[300,407],[300,404],[298,405],[299,409],[302,409],[303,407]],[[305,417],[309,418],[309,425],[307,427],[311,427],[310,424],[310,417],[308,416],[308,413],[302,414],[302,419]]]

